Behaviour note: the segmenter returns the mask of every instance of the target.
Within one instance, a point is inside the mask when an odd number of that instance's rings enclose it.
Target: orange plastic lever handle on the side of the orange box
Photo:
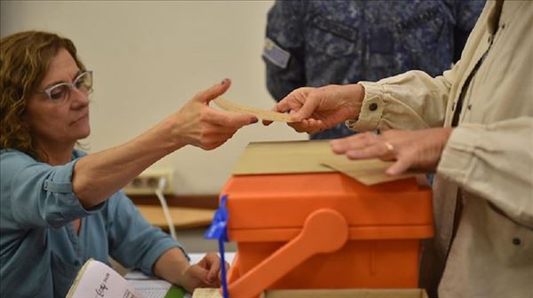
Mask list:
[[[331,253],[348,239],[348,224],[337,211],[322,208],[307,216],[298,236],[228,286],[231,297],[258,296],[276,280],[318,253]]]

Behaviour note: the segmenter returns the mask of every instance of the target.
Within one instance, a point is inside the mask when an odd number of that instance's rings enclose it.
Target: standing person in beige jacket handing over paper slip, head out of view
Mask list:
[[[394,161],[389,175],[436,173],[435,236],[420,271],[432,297],[437,286],[441,298],[533,293],[531,27],[533,2],[490,1],[443,75],[300,88],[274,106],[297,131],[345,121],[367,131],[330,142],[348,159]]]

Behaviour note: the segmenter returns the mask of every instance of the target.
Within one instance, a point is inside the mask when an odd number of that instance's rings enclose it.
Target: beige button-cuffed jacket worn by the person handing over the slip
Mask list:
[[[421,283],[434,293],[440,280],[441,298],[530,298],[533,1],[486,4],[460,61],[442,76],[411,71],[362,82],[361,114],[346,124],[355,130],[449,127],[485,51],[434,179],[435,237],[425,246]],[[454,238],[457,193],[462,212]]]

